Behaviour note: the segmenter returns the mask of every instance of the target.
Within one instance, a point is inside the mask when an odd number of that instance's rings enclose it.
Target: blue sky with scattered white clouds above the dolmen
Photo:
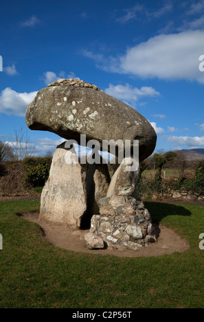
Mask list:
[[[77,77],[146,117],[155,151],[204,148],[204,0],[11,0],[0,25],[0,140],[22,127],[36,155],[54,151],[63,139],[28,129],[25,110]]]

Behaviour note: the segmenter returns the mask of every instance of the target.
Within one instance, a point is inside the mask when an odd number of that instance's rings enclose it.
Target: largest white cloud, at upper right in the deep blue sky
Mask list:
[[[117,71],[141,77],[190,79],[204,84],[199,71],[204,31],[159,35],[132,47],[120,58]]]

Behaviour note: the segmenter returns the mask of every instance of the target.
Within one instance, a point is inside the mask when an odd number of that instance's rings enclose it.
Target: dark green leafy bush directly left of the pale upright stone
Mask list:
[[[49,169],[52,163],[52,158],[46,156],[44,158],[25,158],[23,160],[26,166],[25,184],[32,187],[42,187],[49,177]]]

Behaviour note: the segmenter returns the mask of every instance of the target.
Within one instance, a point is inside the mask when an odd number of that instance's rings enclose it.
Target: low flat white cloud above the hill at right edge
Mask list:
[[[164,138],[168,142],[179,146],[198,147],[204,145],[204,136],[164,136]]]

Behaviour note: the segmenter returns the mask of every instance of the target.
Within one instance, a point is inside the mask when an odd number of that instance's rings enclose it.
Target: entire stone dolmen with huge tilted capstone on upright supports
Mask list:
[[[88,229],[84,238],[93,249],[137,250],[157,241],[150,213],[137,197],[139,162],[157,141],[144,116],[98,86],[58,79],[38,91],[25,121],[30,129],[65,138],[54,152],[40,218]],[[76,145],[92,151],[79,155]],[[118,160],[112,178],[101,151]]]

